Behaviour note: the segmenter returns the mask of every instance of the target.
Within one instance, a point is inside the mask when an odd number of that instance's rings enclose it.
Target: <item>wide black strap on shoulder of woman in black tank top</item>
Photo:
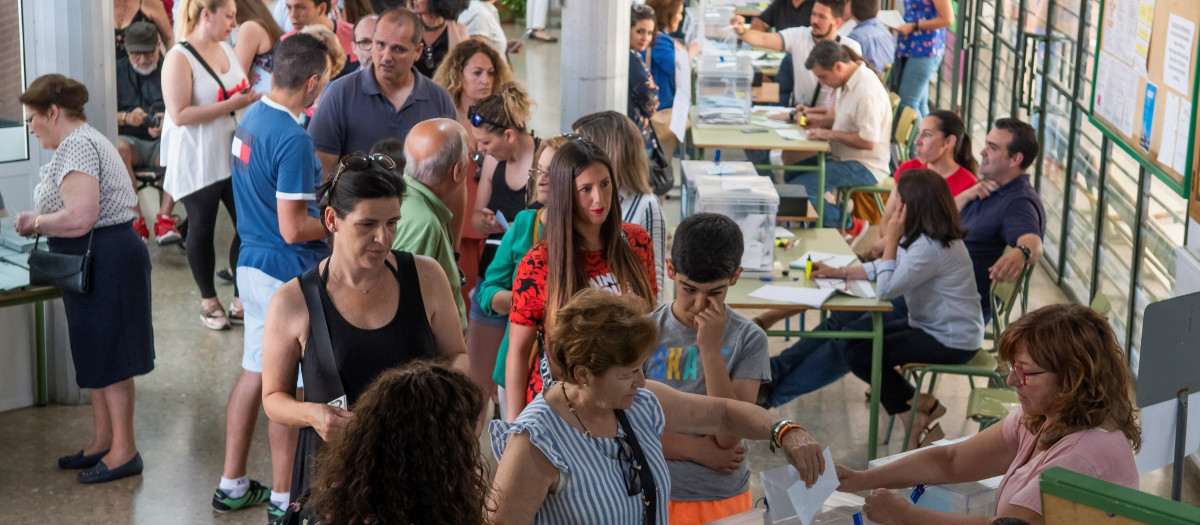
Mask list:
[[[310,361],[312,366],[305,366],[304,372],[305,375],[312,374],[311,379],[316,379],[316,381],[305,379],[305,391],[319,403],[328,403],[346,396],[346,390],[342,387],[342,378],[337,375],[334,342],[329,337],[324,303],[320,300],[319,271],[320,264],[318,262],[317,266],[300,274],[300,290],[304,291],[304,300],[308,307],[308,337],[311,338],[310,343],[312,343],[308,345],[310,354],[305,355],[305,361]]]

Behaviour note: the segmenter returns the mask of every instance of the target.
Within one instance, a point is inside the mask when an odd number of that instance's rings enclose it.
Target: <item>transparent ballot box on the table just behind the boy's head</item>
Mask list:
[[[749,163],[746,163],[749,164]],[[724,165],[724,164],[721,164]],[[751,173],[752,173],[751,167]],[[689,206],[695,212],[724,215],[738,224],[745,241],[742,267],[770,274],[775,264],[775,216],[779,193],[769,177],[754,175],[688,176]]]

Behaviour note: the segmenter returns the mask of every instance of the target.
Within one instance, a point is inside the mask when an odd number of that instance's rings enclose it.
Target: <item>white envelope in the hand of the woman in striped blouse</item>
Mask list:
[[[773,520],[779,521],[794,515],[804,525],[812,523],[812,517],[824,508],[826,500],[840,484],[838,471],[833,467],[833,454],[829,453],[829,447],[824,449],[824,473],[817,477],[812,487],[804,485],[800,473],[792,465],[760,473],[762,491],[767,496]]]

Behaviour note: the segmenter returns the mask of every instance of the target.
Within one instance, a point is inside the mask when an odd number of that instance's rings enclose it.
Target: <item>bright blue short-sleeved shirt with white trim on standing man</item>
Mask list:
[[[280,234],[276,199],[305,200],[308,216],[319,217],[314,193],[320,183],[320,163],[312,138],[300,127],[299,115],[269,96],[253,103],[234,132],[229,162],[233,199],[241,219],[238,266],[288,282],[329,257],[324,240],[288,243]]]

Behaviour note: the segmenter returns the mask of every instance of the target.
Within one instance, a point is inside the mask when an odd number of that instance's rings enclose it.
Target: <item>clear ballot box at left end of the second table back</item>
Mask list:
[[[701,55],[696,66],[695,126],[750,123],[750,86],[754,66],[749,56]]]

